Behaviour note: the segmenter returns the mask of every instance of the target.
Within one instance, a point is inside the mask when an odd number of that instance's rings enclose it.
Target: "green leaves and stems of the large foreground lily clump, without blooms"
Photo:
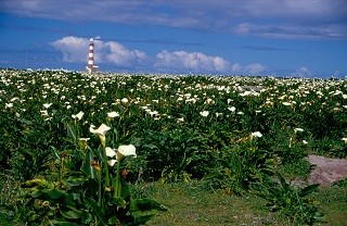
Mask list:
[[[66,128],[67,139],[77,147],[77,128]],[[22,194],[11,210],[15,221],[30,225],[129,225],[150,217],[142,214],[137,219],[132,212],[166,210],[150,199],[130,200],[121,174],[126,171],[125,155],[117,152],[114,170],[107,163],[105,147],[92,150],[87,140],[79,140],[79,145],[80,149],[73,151],[51,149],[56,156],[56,172],[51,172],[50,180],[37,177],[22,184]]]

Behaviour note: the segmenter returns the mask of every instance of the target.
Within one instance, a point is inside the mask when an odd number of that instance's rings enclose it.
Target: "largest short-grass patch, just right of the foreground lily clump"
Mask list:
[[[277,213],[270,213],[258,197],[227,196],[206,191],[201,181],[138,186],[138,196],[155,199],[168,208],[146,225],[291,225]]]

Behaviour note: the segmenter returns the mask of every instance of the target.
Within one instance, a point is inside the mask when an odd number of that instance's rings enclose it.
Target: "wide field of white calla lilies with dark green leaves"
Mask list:
[[[1,204],[18,221],[126,225],[140,221],[131,184],[206,179],[273,201],[279,166],[346,158],[347,80],[0,70],[0,135],[1,172],[21,185]],[[314,222],[304,194],[290,212]]]

